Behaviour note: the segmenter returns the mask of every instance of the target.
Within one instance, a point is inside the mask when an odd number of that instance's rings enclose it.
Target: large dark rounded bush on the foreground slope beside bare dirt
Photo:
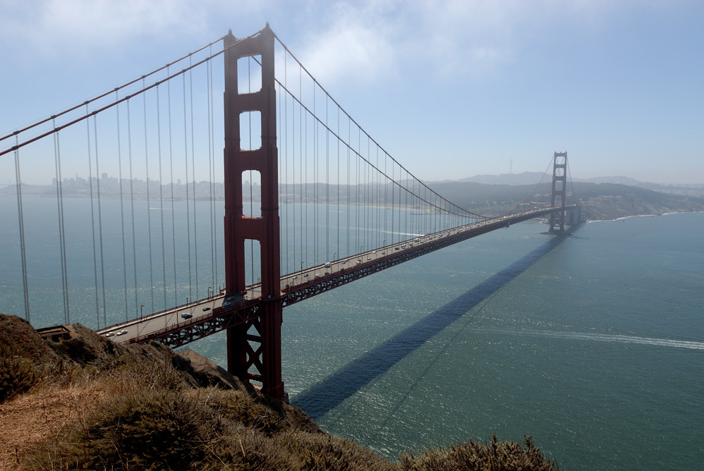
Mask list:
[[[208,408],[177,391],[145,391],[105,403],[28,459],[40,468],[195,469],[222,429]]]

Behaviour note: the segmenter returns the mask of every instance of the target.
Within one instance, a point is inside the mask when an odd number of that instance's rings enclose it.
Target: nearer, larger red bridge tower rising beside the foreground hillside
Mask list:
[[[279,261],[279,189],[274,89],[274,32],[267,26],[258,35],[237,40],[223,38],[225,55],[224,176],[225,176],[225,293],[241,296],[245,287],[245,241],[260,243],[262,295],[253,307],[256,315],[233,322],[227,329],[227,369],[242,379],[260,381],[262,393],[284,398],[281,381],[282,303]],[[262,64],[262,88],[238,91],[237,61],[255,56]],[[240,118],[259,111],[262,140],[259,149],[243,150]],[[261,216],[243,214],[242,177],[248,170],[261,177]],[[250,369],[256,370],[250,371]]]

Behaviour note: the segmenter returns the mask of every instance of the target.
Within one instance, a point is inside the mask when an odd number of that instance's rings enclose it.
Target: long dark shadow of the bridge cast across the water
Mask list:
[[[340,405],[354,393],[370,384],[376,377],[387,372],[397,362],[420,348],[435,334],[445,329],[483,300],[497,293],[516,276],[526,271],[550,250],[562,243],[567,236],[552,236],[547,243],[536,248],[525,257],[509,265],[483,283],[468,290],[458,298],[439,307],[412,326],[399,332],[389,340],[365,353],[348,365],[337,370],[326,379],[298,394],[291,405],[299,407],[318,420]]]

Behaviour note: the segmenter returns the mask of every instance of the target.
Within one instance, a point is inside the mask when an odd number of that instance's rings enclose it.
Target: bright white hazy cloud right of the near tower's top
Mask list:
[[[614,4],[615,3],[615,4]],[[439,80],[500,73],[556,26],[598,34],[614,13],[660,0],[366,0],[311,2],[301,60],[322,82],[393,82],[418,67]],[[320,27],[320,25],[327,25]]]

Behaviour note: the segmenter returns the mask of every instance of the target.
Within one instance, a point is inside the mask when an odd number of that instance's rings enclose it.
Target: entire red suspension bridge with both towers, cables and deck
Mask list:
[[[3,248],[16,276],[0,310],[27,320],[56,311],[53,323],[82,322],[124,343],[175,347],[226,331],[229,372],[277,398],[287,305],[528,219],[546,216],[558,235],[580,222],[566,152],[550,159],[550,195],[502,214],[445,199],[268,25],[241,39],[229,32],[0,143],[18,239]],[[37,166],[54,173],[41,195],[22,177]],[[88,215],[85,234],[75,228]],[[35,281],[40,271],[61,288]]]

